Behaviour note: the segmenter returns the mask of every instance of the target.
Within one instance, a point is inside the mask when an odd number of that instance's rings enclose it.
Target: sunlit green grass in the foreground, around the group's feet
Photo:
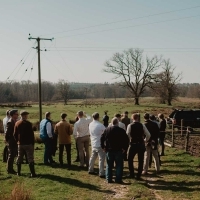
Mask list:
[[[0,136],[2,144],[3,137]],[[154,175],[154,168],[142,181],[124,179],[127,185],[107,184],[98,176],[80,171],[78,163],[73,163],[71,170],[44,166],[43,145],[36,144],[40,150],[35,151],[36,173],[38,178],[30,179],[28,165],[22,165],[22,176],[8,175],[6,164],[0,163],[0,196],[9,195],[16,182],[24,183],[31,190],[33,199],[199,199],[200,192],[200,158],[172,148],[166,149],[162,157],[161,174]],[[0,150],[2,152],[3,145]],[[75,147],[72,146],[72,160],[75,160]],[[58,161],[58,152],[55,157]],[[136,161],[136,160],[135,160]],[[135,162],[137,165],[137,161]],[[16,166],[14,166],[16,168]],[[97,163],[95,168],[97,170]],[[127,162],[124,175],[128,175]],[[1,198],[0,198],[1,199]]]

